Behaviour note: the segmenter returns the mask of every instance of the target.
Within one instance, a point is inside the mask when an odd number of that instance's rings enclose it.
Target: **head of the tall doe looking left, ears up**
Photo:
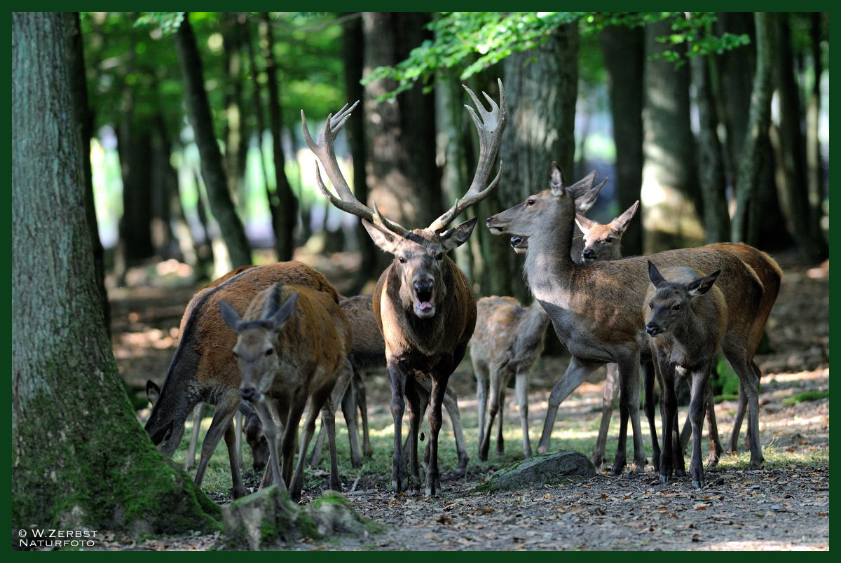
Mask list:
[[[592,171],[567,186],[561,167],[553,162],[547,189],[526,197],[526,201],[513,208],[491,215],[485,224],[491,234],[510,234],[510,244],[515,250],[526,249],[528,244],[523,239],[551,231],[556,224],[572,221],[576,211],[584,213],[590,209],[607,180],[596,185],[594,182],[595,171]]]

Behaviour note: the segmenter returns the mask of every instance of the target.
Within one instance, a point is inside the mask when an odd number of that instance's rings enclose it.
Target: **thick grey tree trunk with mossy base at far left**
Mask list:
[[[219,529],[137,423],[103,326],[66,20],[12,20],[12,527]],[[18,538],[18,534],[13,534]]]

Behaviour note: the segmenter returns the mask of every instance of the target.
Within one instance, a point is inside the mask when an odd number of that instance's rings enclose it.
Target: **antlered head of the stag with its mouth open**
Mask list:
[[[318,141],[314,141],[309,134],[304,112],[301,112],[301,120],[304,125],[304,139],[309,149],[324,166],[327,177],[336,188],[338,197],[327,189],[321,180],[321,172],[318,163],[315,165],[315,178],[318,182],[321,193],[336,208],[347,213],[353,213],[362,218],[362,224],[368,230],[374,244],[390,254],[394,255],[392,268],[399,276],[399,294],[406,309],[419,318],[431,318],[436,313],[436,303],[440,304],[447,296],[447,285],[444,282],[445,268],[452,266],[452,261],[447,259],[447,252],[463,245],[468,240],[477,219],[473,218],[449,228],[452,221],[464,210],[488,197],[500,181],[502,164],[493,181],[488,183],[490,172],[494,164],[496,152],[500,147],[502,131],[505,129],[505,90],[502,82],[500,87],[500,104],[497,105],[493,98],[482,92],[490,104],[490,111],[484,108],[479,98],[468,88],[464,89],[473,100],[476,106],[474,110],[470,106],[468,112],[473,118],[473,124],[479,133],[479,164],[476,167],[476,174],[473,176],[468,192],[460,197],[452,208],[447,209],[439,218],[436,218],[426,229],[406,229],[405,227],[385,218],[376,206],[368,208],[360,203],[348,187],[344,176],[339,170],[336,161],[336,154],[333,150],[333,141],[339,133],[342,125],[351,116],[354,103],[350,108],[341,108],[336,115],[329,115],[325,128],[321,129]],[[478,114],[477,114],[478,113]]]

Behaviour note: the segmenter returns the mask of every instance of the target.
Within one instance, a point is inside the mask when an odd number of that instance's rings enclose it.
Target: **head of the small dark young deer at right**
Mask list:
[[[678,269],[674,269],[678,270]],[[648,260],[648,279],[652,286],[648,291],[648,307],[645,310],[645,331],[651,336],[671,333],[686,326],[692,314],[692,303],[709,292],[721,270],[709,276],[696,277],[689,268],[680,268],[680,281],[668,281],[657,266]]]

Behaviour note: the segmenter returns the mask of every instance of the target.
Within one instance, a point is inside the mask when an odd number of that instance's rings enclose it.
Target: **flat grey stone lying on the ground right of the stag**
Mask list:
[[[558,482],[569,477],[595,476],[595,466],[587,456],[573,450],[535,455],[516,466],[497,471],[486,484],[491,491],[511,491]]]

